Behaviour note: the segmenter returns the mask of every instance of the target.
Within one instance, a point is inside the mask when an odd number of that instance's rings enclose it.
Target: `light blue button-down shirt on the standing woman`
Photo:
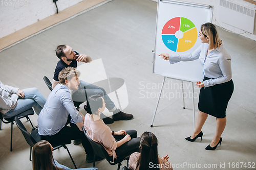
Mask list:
[[[199,59],[204,68],[204,76],[211,78],[204,81],[205,87],[230,81],[232,77],[231,57],[226,51],[226,48],[221,44],[220,47],[212,50],[207,55],[208,46],[208,43],[202,43],[193,53],[170,55],[170,64],[174,64],[179,61],[192,61]]]

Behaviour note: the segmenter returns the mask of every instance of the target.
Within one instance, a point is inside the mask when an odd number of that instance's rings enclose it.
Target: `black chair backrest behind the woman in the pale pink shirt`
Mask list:
[[[91,143],[94,153],[102,158],[105,158],[109,162],[110,161],[113,162],[113,157],[109,156],[109,154],[108,154],[108,152],[106,152],[105,148],[99,142],[93,141],[90,137],[88,137],[86,134],[86,130],[84,130],[83,127],[82,127],[82,130],[83,130],[84,135],[86,135],[87,139]]]

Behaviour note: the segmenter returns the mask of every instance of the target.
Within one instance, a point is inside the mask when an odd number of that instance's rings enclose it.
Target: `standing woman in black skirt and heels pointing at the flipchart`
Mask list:
[[[193,134],[186,138],[188,141],[195,141],[202,136],[202,127],[209,115],[216,117],[216,133],[206,150],[215,150],[221,145],[221,134],[226,126],[226,108],[233,93],[233,81],[231,80],[231,58],[219,38],[216,27],[212,23],[205,23],[201,26],[199,38],[202,44],[191,54],[168,55],[161,54],[164,60],[170,64],[179,61],[192,61],[199,59],[204,69],[204,80],[197,82],[200,89],[198,103],[198,118]]]

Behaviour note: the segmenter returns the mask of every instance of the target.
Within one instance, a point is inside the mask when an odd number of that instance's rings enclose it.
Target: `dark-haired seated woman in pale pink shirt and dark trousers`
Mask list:
[[[105,109],[104,99],[100,95],[90,96],[87,100],[86,109],[89,113],[84,118],[84,129],[87,136],[101,143],[106,152],[113,156],[113,161],[120,155],[138,151],[140,143],[136,130],[114,132],[100,119],[100,113]]]

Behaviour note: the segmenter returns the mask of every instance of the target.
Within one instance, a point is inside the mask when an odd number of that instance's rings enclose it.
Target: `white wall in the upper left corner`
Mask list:
[[[62,11],[81,1],[58,0],[56,4],[58,11]],[[56,6],[52,0],[3,0],[3,4],[0,2],[0,38],[55,13]]]

